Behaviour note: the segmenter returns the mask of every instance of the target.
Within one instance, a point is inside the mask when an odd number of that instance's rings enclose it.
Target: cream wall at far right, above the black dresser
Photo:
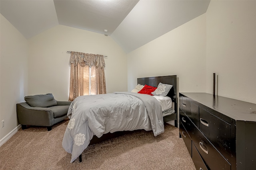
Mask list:
[[[256,1],[211,0],[206,12],[206,92],[256,104]]]

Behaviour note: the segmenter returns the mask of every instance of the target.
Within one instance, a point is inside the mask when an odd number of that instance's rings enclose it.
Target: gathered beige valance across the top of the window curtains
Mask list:
[[[105,68],[105,61],[103,55],[71,51],[70,64],[74,64],[76,66],[77,63],[79,63],[82,67],[87,65],[96,66],[96,68]]]

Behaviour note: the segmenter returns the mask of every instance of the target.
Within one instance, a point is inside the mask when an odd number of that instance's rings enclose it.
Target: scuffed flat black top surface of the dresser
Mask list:
[[[256,104],[222,96],[213,96],[208,93],[180,92],[180,94],[232,119],[256,122]]]

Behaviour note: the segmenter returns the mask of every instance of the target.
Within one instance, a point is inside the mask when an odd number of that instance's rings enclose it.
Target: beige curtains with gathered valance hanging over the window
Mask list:
[[[104,69],[105,61],[103,55],[71,51],[68,100],[73,101],[76,97],[83,95],[106,94]]]

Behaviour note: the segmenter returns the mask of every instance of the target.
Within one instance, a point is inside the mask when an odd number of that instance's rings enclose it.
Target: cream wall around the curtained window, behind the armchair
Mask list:
[[[28,40],[28,93],[52,93],[68,100],[70,54],[66,51],[101,54],[105,59],[106,90],[127,91],[126,54],[110,36],[57,25]]]

